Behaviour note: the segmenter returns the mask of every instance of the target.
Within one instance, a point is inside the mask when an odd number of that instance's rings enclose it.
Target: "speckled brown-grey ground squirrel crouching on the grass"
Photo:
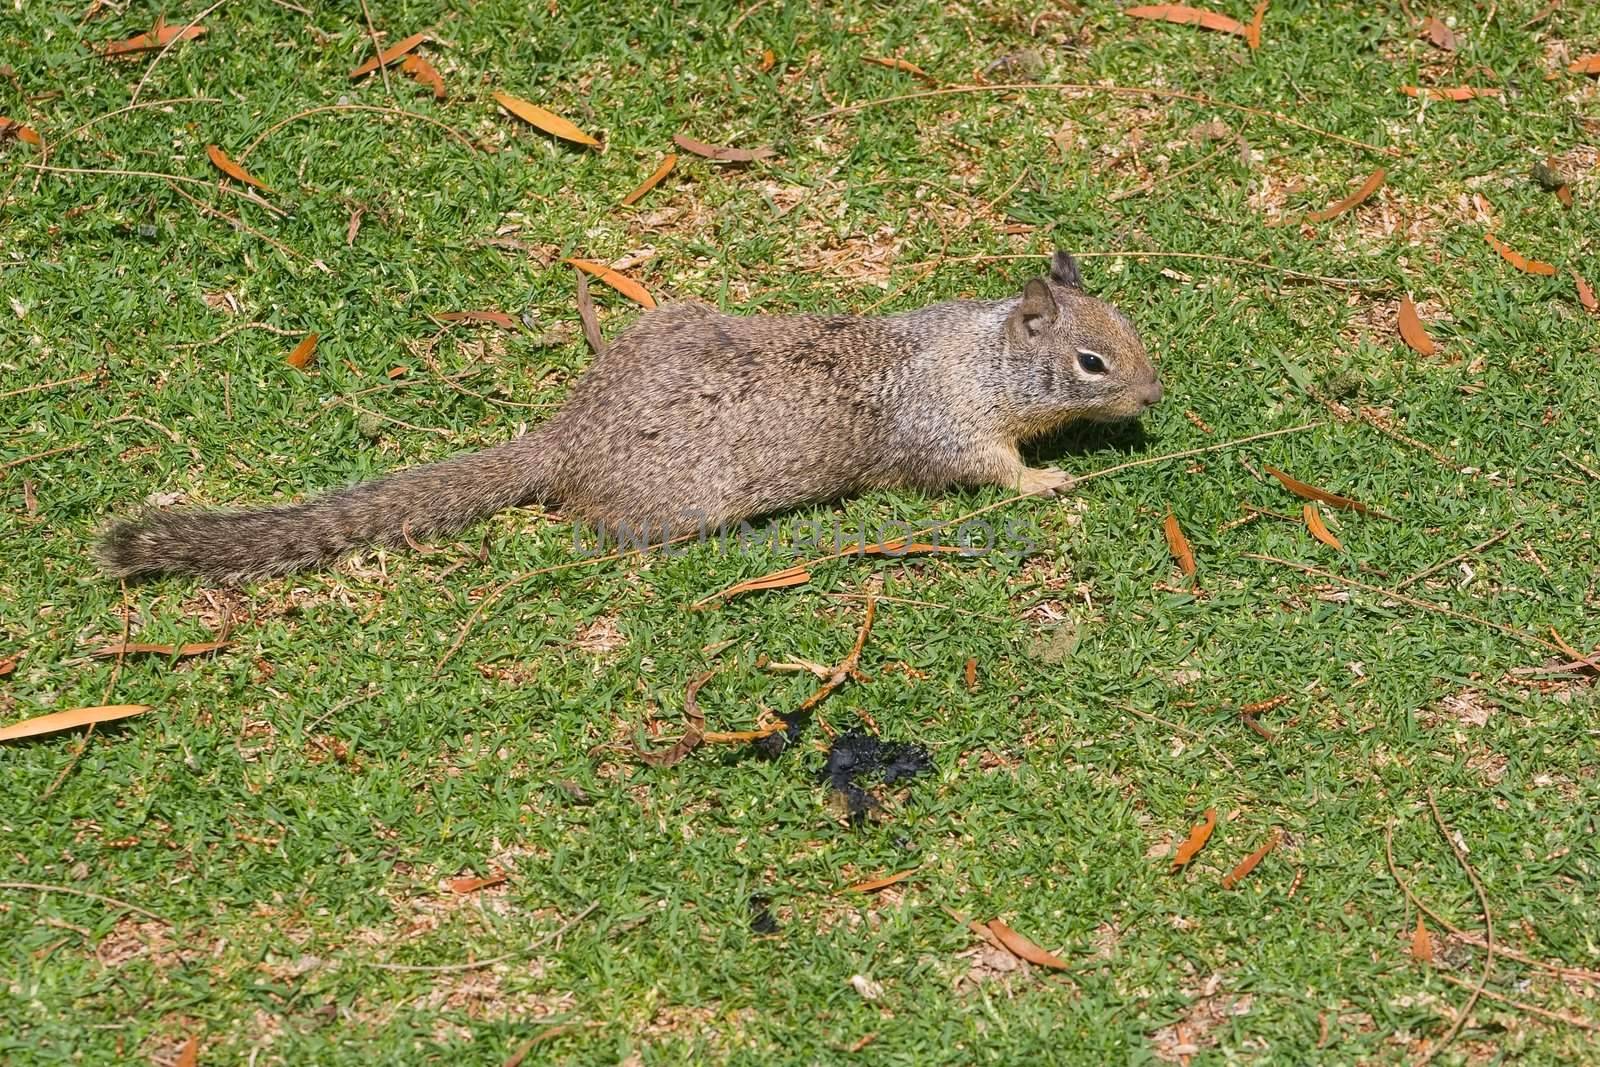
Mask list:
[[[1160,398],[1133,323],[1083,291],[1064,251],[1010,299],[896,315],[662,304],[523,437],[304,504],[147,512],[106,530],[98,555],[112,577],[234,582],[448,536],[518,504],[656,544],[875,488],[1043,494],[1072,478],[1026,466],[1019,442]]]

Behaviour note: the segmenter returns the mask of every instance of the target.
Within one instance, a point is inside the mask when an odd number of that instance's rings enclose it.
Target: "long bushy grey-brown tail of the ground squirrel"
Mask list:
[[[304,504],[259,510],[150,512],[110,526],[98,549],[112,577],[200,574],[232,582],[333,563],[381,544],[453,534],[544,499],[557,456],[536,430],[482,453],[402,470]]]

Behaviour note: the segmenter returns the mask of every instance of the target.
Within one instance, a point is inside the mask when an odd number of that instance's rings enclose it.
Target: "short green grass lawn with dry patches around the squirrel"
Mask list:
[[[0,114],[37,126],[50,166],[213,181],[206,144],[238,157],[302,109],[390,106],[381,78],[347,78],[371,51],[360,8],[312,6],[221,6],[142,93],[214,102],[74,134],[126,106],[152,61],[96,59],[80,42],[146,30],[163,8],[134,0],[80,27],[82,3],[22,5],[0,24],[14,72],[0,80]],[[1600,8],[1568,3],[1526,29],[1541,3],[1499,3],[1486,24],[1493,5],[1429,6],[1464,34],[1446,70],[1397,10],[1312,0],[1272,3],[1256,53],[1104,0],[826,14],[774,0],[731,35],[738,8],[723,5],[550,6],[373,5],[389,40],[435,32],[426,54],[451,90],[434,102],[395,72],[394,106],[494,150],[374,112],[301,118],[246,160],[285,218],[184,187],[256,232],[200,214],[160,179],[40,174],[22,170],[45,158],[35,147],[0,146],[0,394],[93,374],[0,400],[0,462],[75,446],[8,466],[0,483],[0,659],[22,656],[0,680],[0,720],[106,699],[155,709],[82,753],[72,734],[0,750],[0,880],[74,889],[0,889],[0,1057],[171,1062],[198,1035],[205,1064],[499,1064],[570,1024],[530,1062],[1149,1062],[1182,1041],[1202,1064],[1402,1062],[1467,998],[1442,974],[1474,982],[1483,966],[1432,921],[1438,966],[1408,955],[1416,912],[1386,869],[1387,825],[1413,889],[1469,931],[1483,921],[1429,789],[1470,849],[1498,939],[1600,968],[1592,683],[1536,686],[1509,672],[1547,649],[1250,558],[1394,587],[1510,530],[1466,561],[1470,573],[1451,565],[1406,592],[1528,633],[1555,627],[1581,648],[1600,641],[1600,512],[1584,474],[1600,467],[1597,320],[1566,274],[1600,283],[1600,98],[1594,80],[1544,77],[1562,69],[1547,54],[1558,42],[1570,56],[1600,51]],[[1243,3],[1221,6],[1248,18]],[[165,11],[184,22],[198,10]],[[765,74],[763,48],[776,54]],[[923,88],[862,56],[970,82],[1022,48],[1040,54],[1042,82],[1206,93],[1398,152],[1104,93],[941,96],[810,118]],[[1490,83],[1478,67],[1504,99],[1422,106],[1394,91]],[[517,123],[494,90],[603,131],[606,150]],[[1213,118],[1248,142],[1250,165],[1237,146],[1210,155],[1214,144],[1190,138]],[[779,155],[747,168],[685,155],[619,208],[680,131]],[[1573,178],[1573,210],[1528,178],[1546,155]],[[1368,205],[1294,224],[1376,165],[1389,179]],[[1147,194],[1112,200],[1146,179]],[[1562,272],[1504,264],[1474,195],[1507,243]],[[1003,232],[1016,224],[1035,229]],[[587,358],[576,331],[536,344],[574,322],[563,256],[650,250],[632,274],[658,294],[731,309],[864,310],[1016,291],[1038,262],[970,258],[1058,245],[1094,254],[1091,288],[1134,317],[1168,400],[1142,435],[1075,434],[1043,461],[1082,474],[1322,426],[1011,506],[1000,515],[1038,542],[1026,560],[851,560],[714,611],[685,608],[789,557],[696,547],[534,577],[437,675],[488,590],[571,558],[570,530],[517,512],[437,555],[368,555],[242,592],[130,587],[139,640],[206,640],[227,605],[232,648],[120,672],[88,657],[123,625],[122,592],[88,560],[93,531],[149,494],[298,498],[544,418],[550,406],[512,405],[558,403]],[[1131,250],[1370,285],[1109,254]],[[1442,342],[1435,357],[1395,336],[1406,290]],[[622,328],[626,302],[597,294],[605,328]],[[429,318],[461,309],[526,314],[536,328],[440,333]],[[248,322],[282,333],[210,342]],[[323,341],[314,368],[296,371],[285,355],[307,331]],[[390,381],[392,366],[410,373]],[[1336,418],[1323,398],[1379,410],[1448,462]],[[1330,517],[1344,553],[1280,518],[1234,525],[1245,504],[1299,510],[1267,464],[1395,522]],[[880,493],[798,518],[875,528],[998,499]],[[1182,590],[1166,553],[1168,509],[1195,545],[1202,595]],[[880,605],[867,681],[824,710],[837,728],[870,717],[938,765],[894,793],[886,819],[842,825],[814,777],[814,731],[776,761],[717,749],[650,769],[616,747],[651,720],[675,736],[685,685],[710,664],[712,728],[792,709],[814,680],[758,657],[838,661],[861,603],[835,593],[869,589],[918,603]],[[1234,709],[1275,694],[1290,699],[1262,717],[1277,733],[1267,742]],[[1163,846],[1213,806],[1210,845],[1170,873]],[[1221,889],[1278,829],[1282,846]],[[907,867],[917,873],[882,896],[837,894]],[[443,889],[493,869],[510,872],[502,886]],[[776,934],[749,931],[752,894],[771,897]],[[982,960],[947,909],[1000,917],[1070,969],[979,966],[989,981],[965,981]],[[459,973],[368,966],[502,953],[515,955]],[[854,974],[880,982],[882,998],[864,1000]],[[1523,963],[1494,961],[1490,990],[1595,1017],[1594,985]],[[1584,1032],[1483,1000],[1437,1062],[1592,1054]]]

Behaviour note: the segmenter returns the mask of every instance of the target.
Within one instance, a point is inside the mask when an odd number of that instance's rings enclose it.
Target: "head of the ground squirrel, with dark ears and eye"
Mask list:
[[[1005,331],[1013,352],[1046,370],[1043,400],[1059,402],[1062,413],[1131,419],[1162,398],[1162,381],[1133,323],[1083,291],[1078,262],[1064,251],[1051,258],[1050,275],[1022,290]]]

